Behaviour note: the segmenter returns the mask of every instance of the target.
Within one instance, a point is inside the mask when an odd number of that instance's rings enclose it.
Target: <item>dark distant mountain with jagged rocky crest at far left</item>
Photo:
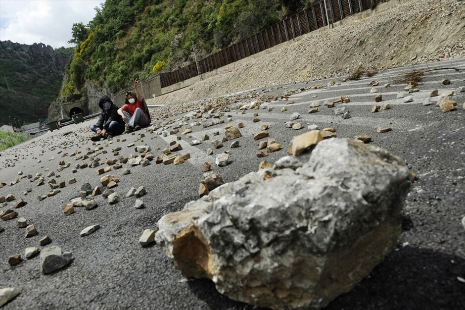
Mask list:
[[[0,42],[0,124],[8,116],[19,117],[15,109],[33,111],[23,113],[24,123],[47,117],[47,104],[58,97],[62,73],[73,50],[54,50],[43,43],[33,45]],[[5,97],[8,95],[7,97]],[[27,95],[27,96],[26,96]],[[15,98],[16,100],[12,100]]]

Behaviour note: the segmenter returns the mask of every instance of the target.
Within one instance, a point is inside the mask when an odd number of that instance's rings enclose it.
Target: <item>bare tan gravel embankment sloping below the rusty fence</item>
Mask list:
[[[380,4],[380,12],[365,19],[349,17],[344,25],[310,33],[233,71],[147,103],[172,104],[273,84],[340,76],[359,64],[367,69],[382,69],[465,56],[465,1],[389,2]],[[383,5],[392,2],[398,4],[383,9]]]

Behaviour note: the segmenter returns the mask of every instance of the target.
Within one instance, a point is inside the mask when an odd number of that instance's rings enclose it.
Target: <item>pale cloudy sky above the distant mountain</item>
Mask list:
[[[74,23],[87,24],[104,0],[0,0],[0,41],[44,43],[53,48],[74,46]]]

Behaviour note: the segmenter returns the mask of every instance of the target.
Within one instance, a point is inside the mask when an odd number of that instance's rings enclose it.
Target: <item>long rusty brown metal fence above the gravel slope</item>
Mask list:
[[[326,0],[328,19],[337,22],[347,16],[373,8],[387,0]],[[279,23],[244,39],[220,52],[211,54],[198,61],[200,74],[213,71],[237,60],[262,52],[280,43],[328,25],[325,1],[290,16]],[[167,87],[198,75],[195,63],[186,65],[172,72],[160,73],[161,87]]]

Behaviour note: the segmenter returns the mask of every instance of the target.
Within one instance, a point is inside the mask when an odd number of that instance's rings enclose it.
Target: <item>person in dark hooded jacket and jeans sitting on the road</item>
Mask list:
[[[118,106],[108,96],[100,98],[98,106],[102,112],[97,122],[91,126],[91,130],[97,134],[91,140],[111,139],[113,136],[121,135],[124,132],[125,123],[118,114]]]

